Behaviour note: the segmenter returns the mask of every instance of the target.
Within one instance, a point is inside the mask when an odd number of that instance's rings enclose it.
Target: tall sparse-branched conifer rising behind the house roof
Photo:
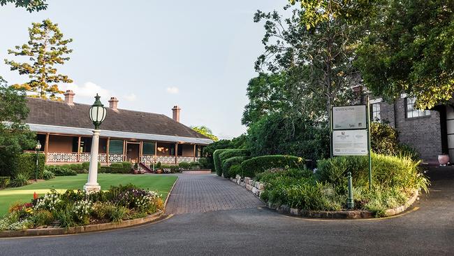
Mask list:
[[[50,20],[33,23],[29,28],[29,38],[24,45],[17,45],[15,50],[8,50],[9,54],[28,57],[29,62],[5,59],[5,63],[11,66],[12,71],[16,70],[30,78],[29,82],[15,84],[13,87],[36,93],[32,94],[32,97],[60,99],[57,94],[63,92],[59,90],[58,83],[72,83],[73,80],[57,73],[54,66],[68,61],[67,55],[73,50],[69,49],[67,44],[73,39],[64,39],[58,24]]]

